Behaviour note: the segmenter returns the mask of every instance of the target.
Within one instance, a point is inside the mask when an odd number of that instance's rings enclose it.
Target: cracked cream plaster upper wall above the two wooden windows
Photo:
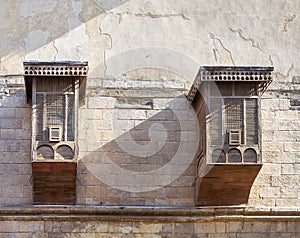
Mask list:
[[[271,64],[283,75],[293,63],[291,76],[299,74],[297,1],[26,2],[0,3],[1,74],[22,73],[24,59],[82,59],[101,77],[106,60],[147,47],[178,51],[199,65]]]

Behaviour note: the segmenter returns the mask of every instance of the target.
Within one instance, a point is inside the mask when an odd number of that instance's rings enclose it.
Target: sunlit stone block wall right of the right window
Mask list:
[[[276,79],[261,101],[263,167],[249,204],[299,206],[300,111],[294,102],[300,87],[295,78],[286,83]]]

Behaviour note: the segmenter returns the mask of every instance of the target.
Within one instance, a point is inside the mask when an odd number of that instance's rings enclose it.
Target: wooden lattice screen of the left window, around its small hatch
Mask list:
[[[74,79],[41,77],[36,80],[36,140],[49,141],[49,127],[62,128],[62,141],[74,141]]]

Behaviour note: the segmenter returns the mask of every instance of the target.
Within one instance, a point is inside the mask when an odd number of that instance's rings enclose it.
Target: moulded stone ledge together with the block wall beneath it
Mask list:
[[[1,237],[288,237],[300,234],[290,209],[124,207],[1,208]],[[44,216],[41,216],[44,214]]]

